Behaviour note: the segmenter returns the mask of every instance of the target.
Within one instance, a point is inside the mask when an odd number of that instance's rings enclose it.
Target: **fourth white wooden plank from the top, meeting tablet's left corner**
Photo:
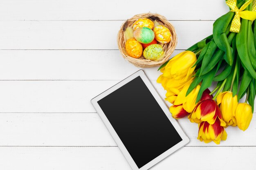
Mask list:
[[[90,100],[118,82],[117,80],[0,81],[0,112],[95,112]],[[152,83],[164,99],[166,92],[161,84],[156,81]],[[244,99],[241,99],[241,102],[243,101]],[[170,103],[166,102],[166,104],[170,106]]]

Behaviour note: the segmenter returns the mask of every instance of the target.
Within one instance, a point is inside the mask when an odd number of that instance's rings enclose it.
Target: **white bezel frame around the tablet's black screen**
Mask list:
[[[176,144],[175,146],[173,146],[170,149],[166,150],[164,153],[162,153],[161,155],[159,155],[158,157],[156,157],[152,161],[148,162],[146,165],[142,166],[141,168],[137,167],[135,161],[132,159],[131,155],[129,154],[128,150],[124,146],[123,142],[121,141],[121,139],[117,135],[117,132],[112,127],[112,125],[110,124],[110,121],[108,121],[108,118],[103,113],[103,111],[101,110],[101,107],[97,103],[100,99],[106,97],[110,93],[114,92],[115,90],[117,90],[121,86],[124,86],[126,83],[130,82],[132,79],[135,79],[138,76],[140,76],[141,79],[143,80],[143,82],[146,84],[146,86],[148,87],[149,91],[155,97],[157,103],[162,108],[162,110],[164,111],[164,113],[166,114],[168,119],[171,121],[171,124],[173,124],[173,127],[175,128],[175,130],[177,130],[177,132],[179,133],[180,137],[182,138],[182,141],[180,141],[178,144]],[[186,144],[189,143],[189,138],[186,136],[185,132],[182,130],[182,128],[180,127],[178,122],[175,119],[173,119],[173,117],[170,114],[170,111],[169,111],[168,107],[166,106],[166,104],[164,103],[164,101],[160,97],[160,95],[157,93],[157,91],[155,90],[153,84],[151,84],[151,82],[148,79],[148,77],[146,77],[146,74],[144,73],[143,70],[139,70],[139,71],[135,72],[134,74],[132,74],[129,77],[127,77],[126,79],[122,80],[118,84],[116,84],[116,85],[112,86],[111,88],[109,88],[108,90],[104,91],[103,93],[101,93],[97,97],[94,97],[91,100],[91,102],[92,102],[92,105],[94,106],[95,110],[97,111],[97,113],[101,117],[103,123],[107,127],[108,131],[110,132],[110,134],[114,138],[115,142],[117,143],[117,146],[119,147],[121,152],[124,154],[124,157],[127,159],[128,163],[130,164],[130,166],[132,167],[133,170],[147,170],[150,167],[154,166],[159,161],[161,161],[162,159],[166,158],[167,156],[171,155],[176,150],[182,148],[183,146],[185,146]]]

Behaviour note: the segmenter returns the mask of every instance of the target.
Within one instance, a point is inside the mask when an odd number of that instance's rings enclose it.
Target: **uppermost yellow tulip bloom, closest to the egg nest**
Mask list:
[[[163,76],[174,79],[189,79],[195,70],[196,55],[192,51],[184,51],[173,57],[165,66]]]

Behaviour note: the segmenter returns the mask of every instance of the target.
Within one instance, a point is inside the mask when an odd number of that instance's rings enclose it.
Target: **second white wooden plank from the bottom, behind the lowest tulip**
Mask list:
[[[228,127],[220,145],[197,139],[198,125],[178,120],[187,146],[256,146],[256,117],[243,132]],[[117,146],[97,113],[0,113],[0,146]]]

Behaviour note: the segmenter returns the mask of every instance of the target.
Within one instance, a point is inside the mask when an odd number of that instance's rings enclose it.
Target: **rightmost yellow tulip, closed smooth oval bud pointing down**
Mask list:
[[[252,106],[247,103],[238,103],[235,115],[238,128],[245,131],[252,120]]]

